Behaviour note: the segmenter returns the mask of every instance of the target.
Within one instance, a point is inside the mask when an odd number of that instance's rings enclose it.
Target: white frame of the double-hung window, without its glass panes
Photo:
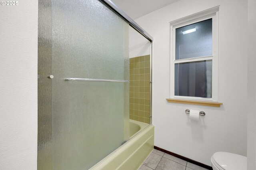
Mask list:
[[[175,59],[175,29],[212,18],[212,55]],[[219,93],[219,6],[170,22],[170,98],[218,102]],[[174,65],[176,63],[212,60],[212,98],[174,95]]]

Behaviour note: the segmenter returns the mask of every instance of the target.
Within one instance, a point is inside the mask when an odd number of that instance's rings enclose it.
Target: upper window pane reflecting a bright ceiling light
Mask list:
[[[212,18],[176,28],[175,59],[212,55]]]

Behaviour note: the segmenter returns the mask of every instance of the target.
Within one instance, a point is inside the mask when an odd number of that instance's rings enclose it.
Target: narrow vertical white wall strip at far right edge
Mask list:
[[[247,169],[256,169],[256,1],[248,0]]]

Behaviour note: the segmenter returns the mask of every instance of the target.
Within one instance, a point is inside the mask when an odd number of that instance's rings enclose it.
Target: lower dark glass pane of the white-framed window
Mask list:
[[[212,98],[212,60],[175,64],[174,95]]]

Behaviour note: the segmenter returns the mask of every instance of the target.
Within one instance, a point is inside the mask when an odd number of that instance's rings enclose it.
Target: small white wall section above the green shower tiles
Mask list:
[[[150,54],[150,42],[131,26],[129,27],[129,57]]]

